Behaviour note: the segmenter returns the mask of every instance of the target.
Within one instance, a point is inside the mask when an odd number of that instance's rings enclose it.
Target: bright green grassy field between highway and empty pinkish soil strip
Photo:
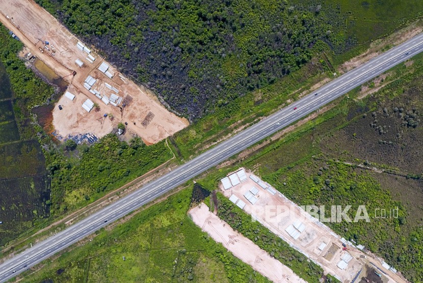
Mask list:
[[[191,193],[184,189],[112,231],[102,229],[23,282],[268,282],[192,222]]]

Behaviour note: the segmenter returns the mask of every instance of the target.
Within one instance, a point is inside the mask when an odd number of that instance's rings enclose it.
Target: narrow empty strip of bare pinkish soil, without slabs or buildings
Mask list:
[[[218,216],[211,213],[204,204],[193,208],[189,214],[202,231],[216,242],[222,243],[235,257],[249,264],[254,270],[274,282],[306,282],[280,261],[272,258],[251,240],[234,231]]]

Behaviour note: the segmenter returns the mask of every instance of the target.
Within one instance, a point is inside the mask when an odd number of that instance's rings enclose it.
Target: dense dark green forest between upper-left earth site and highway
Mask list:
[[[277,0],[38,3],[191,120],[298,69],[319,40],[337,50],[348,44],[332,32],[342,21],[339,9],[325,12],[321,5]]]

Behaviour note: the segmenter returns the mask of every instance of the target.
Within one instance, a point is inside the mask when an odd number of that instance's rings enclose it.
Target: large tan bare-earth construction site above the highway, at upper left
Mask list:
[[[84,43],[95,58],[94,62],[90,62],[88,53],[76,46],[80,40],[34,1],[2,0],[0,21],[19,37],[32,54],[66,80],[69,83],[68,91],[76,96],[74,100],[66,97],[59,100],[58,105],[64,105],[63,110],[54,108],[53,125],[57,134],[66,137],[91,132],[102,137],[119,122],[127,122],[128,131],[142,137],[146,144],[154,144],[188,126],[186,119],[168,111],[153,94],[143,91],[104,61],[95,52],[95,47]],[[49,44],[45,44],[45,41]],[[75,63],[77,59],[84,63],[82,67]],[[114,74],[112,78],[98,70],[102,62],[110,66],[109,70]],[[74,76],[73,71],[76,71]],[[89,75],[96,79],[92,89],[109,98],[114,92],[106,87],[108,84],[122,98],[118,106],[126,102],[126,107],[107,105],[84,88],[84,81]],[[94,108],[90,112],[84,110],[82,103],[87,98],[97,103],[99,109]],[[104,118],[104,114],[109,114],[109,117],[112,114],[114,119]]]

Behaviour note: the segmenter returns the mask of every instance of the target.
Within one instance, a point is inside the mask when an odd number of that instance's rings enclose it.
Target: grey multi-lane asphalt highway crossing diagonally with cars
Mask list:
[[[325,84],[319,90],[277,111],[272,116],[263,119],[198,157],[180,165],[168,174],[140,187],[137,191],[117,202],[5,261],[0,265],[0,282],[4,282],[51,257],[58,251],[94,233],[110,222],[138,209],[206,171],[208,168],[219,164],[261,139],[305,117],[421,51],[423,51],[423,34],[417,35]]]

